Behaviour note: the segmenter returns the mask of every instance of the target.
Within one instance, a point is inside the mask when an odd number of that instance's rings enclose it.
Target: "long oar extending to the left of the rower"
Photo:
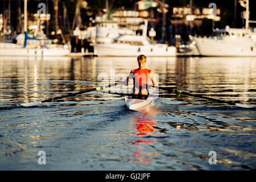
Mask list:
[[[54,97],[54,98],[48,98],[47,100],[36,101],[36,102],[31,102],[31,103],[27,103],[27,104],[20,104],[20,105],[21,105],[21,106],[24,106],[24,107],[39,106],[40,104],[43,104],[44,102],[51,102],[51,101],[58,100],[58,99],[60,99],[60,98],[72,97],[72,96],[76,96],[76,95],[82,94],[82,93],[93,92],[93,91],[96,91],[96,90],[102,90],[102,89],[110,88],[110,87],[112,87],[112,86],[116,86],[116,85],[119,85],[119,84],[122,84],[122,82],[117,82],[117,83],[115,83],[115,84],[109,84],[108,86],[98,86],[98,87],[93,88],[93,89],[82,90],[82,91],[80,91],[80,92],[69,93],[69,94],[64,95],[64,96],[59,96],[59,97]]]

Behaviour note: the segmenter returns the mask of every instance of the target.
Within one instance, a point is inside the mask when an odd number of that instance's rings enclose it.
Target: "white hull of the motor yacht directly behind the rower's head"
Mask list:
[[[176,56],[175,47],[162,45],[132,46],[130,44],[94,44],[97,56]]]

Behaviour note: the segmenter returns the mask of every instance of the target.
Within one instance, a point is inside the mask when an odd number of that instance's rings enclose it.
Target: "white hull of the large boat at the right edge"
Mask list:
[[[256,56],[256,45],[249,38],[194,38],[201,56]]]

